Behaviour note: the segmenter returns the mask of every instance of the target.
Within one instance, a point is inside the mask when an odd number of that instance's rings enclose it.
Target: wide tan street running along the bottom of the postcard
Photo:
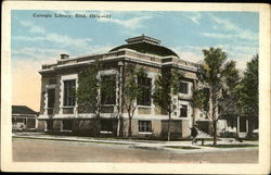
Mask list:
[[[16,162],[257,163],[258,149],[214,152],[149,150],[127,145],[13,138]]]

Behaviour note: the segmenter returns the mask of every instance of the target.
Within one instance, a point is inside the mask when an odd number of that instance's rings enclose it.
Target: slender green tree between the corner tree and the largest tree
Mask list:
[[[170,141],[171,113],[176,110],[173,96],[178,95],[182,73],[167,70],[155,79],[154,103],[168,113],[167,140]]]

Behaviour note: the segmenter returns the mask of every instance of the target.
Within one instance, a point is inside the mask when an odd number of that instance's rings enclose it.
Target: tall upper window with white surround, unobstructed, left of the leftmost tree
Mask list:
[[[75,79],[64,80],[64,107],[75,105]]]

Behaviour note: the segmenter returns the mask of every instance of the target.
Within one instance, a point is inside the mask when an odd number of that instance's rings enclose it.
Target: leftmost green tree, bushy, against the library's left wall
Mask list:
[[[95,114],[95,135],[100,137],[101,133],[101,109],[103,104],[115,96],[115,76],[101,76],[103,70],[102,61],[95,60],[87,68],[79,73],[77,100],[81,111],[93,112]]]

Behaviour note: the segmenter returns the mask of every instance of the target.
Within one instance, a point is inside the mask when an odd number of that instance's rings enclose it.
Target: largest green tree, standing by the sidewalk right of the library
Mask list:
[[[214,145],[217,145],[217,122],[227,114],[236,114],[234,89],[240,83],[234,61],[227,62],[220,48],[203,50],[204,63],[198,67],[198,82],[204,89],[194,89],[192,103],[211,121]]]

